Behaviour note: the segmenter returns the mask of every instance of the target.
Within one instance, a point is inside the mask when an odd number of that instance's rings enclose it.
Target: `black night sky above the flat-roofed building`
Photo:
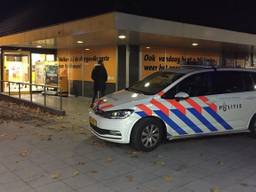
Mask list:
[[[253,2],[253,0],[8,0],[1,3],[0,35],[114,10],[256,34],[256,6]]]

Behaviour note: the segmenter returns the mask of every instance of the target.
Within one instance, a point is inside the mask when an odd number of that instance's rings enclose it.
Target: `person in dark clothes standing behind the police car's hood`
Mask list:
[[[99,60],[98,63],[94,65],[91,78],[93,80],[93,98],[91,107],[93,107],[96,97],[103,97],[105,95],[108,73],[103,64],[103,60]]]

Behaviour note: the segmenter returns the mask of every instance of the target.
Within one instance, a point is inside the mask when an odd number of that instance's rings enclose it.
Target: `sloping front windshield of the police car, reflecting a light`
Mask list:
[[[129,91],[154,95],[179,79],[184,74],[174,72],[156,72],[128,88]]]

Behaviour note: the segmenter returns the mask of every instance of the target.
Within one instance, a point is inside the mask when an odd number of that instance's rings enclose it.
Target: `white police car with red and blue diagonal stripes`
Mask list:
[[[164,139],[250,131],[256,135],[256,72],[181,67],[103,97],[89,112],[100,139],[151,151]]]

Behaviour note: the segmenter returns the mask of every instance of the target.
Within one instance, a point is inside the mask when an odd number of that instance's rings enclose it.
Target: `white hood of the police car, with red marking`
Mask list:
[[[121,90],[101,98],[98,107],[103,111],[119,109],[124,105],[129,105],[127,107],[130,108],[136,105],[138,101],[148,98],[148,95]]]

